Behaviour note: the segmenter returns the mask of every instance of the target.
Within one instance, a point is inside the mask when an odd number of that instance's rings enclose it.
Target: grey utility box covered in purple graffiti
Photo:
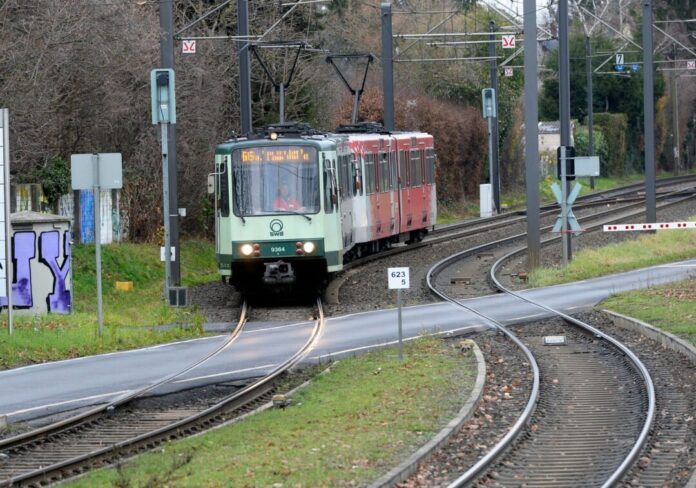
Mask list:
[[[70,222],[57,215],[12,214],[12,305],[31,313],[70,313]],[[7,298],[0,297],[0,306]]]

